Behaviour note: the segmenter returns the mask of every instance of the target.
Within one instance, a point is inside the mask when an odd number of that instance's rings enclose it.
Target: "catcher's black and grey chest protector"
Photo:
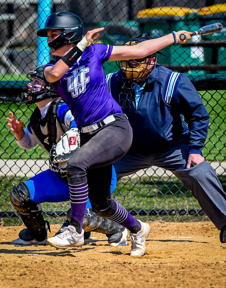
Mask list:
[[[30,117],[30,127],[35,140],[44,151],[49,154],[53,143],[59,141],[60,136],[63,135],[68,127],[60,124],[57,115],[57,106],[62,101],[60,97],[53,99],[49,104],[47,113],[43,118],[39,108],[35,108]]]

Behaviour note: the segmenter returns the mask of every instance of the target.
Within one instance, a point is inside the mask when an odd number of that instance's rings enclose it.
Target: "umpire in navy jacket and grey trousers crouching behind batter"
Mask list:
[[[173,33],[173,32],[172,32]],[[125,45],[151,39],[135,37]],[[120,71],[106,76],[112,96],[133,128],[128,153],[114,163],[117,179],[140,169],[170,170],[191,190],[226,242],[226,194],[202,156],[209,115],[190,80],[156,63],[156,55],[118,62]],[[185,125],[183,121],[187,123]]]

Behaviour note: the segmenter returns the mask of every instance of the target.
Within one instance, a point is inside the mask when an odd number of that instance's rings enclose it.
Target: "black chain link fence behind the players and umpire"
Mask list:
[[[196,31],[206,24],[221,22],[223,30],[194,36],[184,45],[173,44],[161,50],[157,61],[173,71],[186,73],[200,93],[210,114],[208,139],[202,149],[214,167],[223,188],[226,181],[226,5],[217,1],[173,0],[0,0],[0,223],[22,222],[9,199],[13,185],[48,169],[48,155],[40,148],[23,150],[10,133],[6,117],[12,111],[26,126],[35,105],[21,105],[19,98],[26,74],[36,65],[49,62],[46,39],[36,31],[50,13],[68,11],[81,17],[85,31],[105,27],[98,43],[122,45],[150,32],[153,38],[171,31]],[[118,70],[105,62],[106,74]],[[101,181],[101,179],[100,179]],[[44,192],[43,192],[44,193]],[[169,171],[152,167],[124,177],[113,197],[143,220],[198,221],[207,219],[191,192]],[[69,202],[43,203],[43,211],[53,213],[48,220],[61,223]]]

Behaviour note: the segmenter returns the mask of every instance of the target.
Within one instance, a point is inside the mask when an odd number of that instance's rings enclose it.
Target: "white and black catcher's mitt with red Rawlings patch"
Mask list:
[[[49,168],[55,172],[64,173],[67,162],[76,149],[80,147],[78,129],[68,130],[61,136],[58,143],[53,144],[49,153]]]

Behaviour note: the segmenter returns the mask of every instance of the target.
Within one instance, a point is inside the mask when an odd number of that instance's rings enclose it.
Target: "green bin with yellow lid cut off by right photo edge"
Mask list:
[[[216,4],[208,7],[203,7],[198,12],[198,18],[201,26],[208,24],[220,22],[223,24],[223,29],[220,32],[203,35],[203,41],[212,41],[214,42],[225,41],[226,40],[226,4]],[[217,43],[216,42],[216,43]],[[217,64],[217,65],[226,65],[226,47],[219,46],[217,58],[213,57],[212,59],[212,48],[204,48],[204,63],[208,64]],[[221,71],[225,72],[225,71]]]

